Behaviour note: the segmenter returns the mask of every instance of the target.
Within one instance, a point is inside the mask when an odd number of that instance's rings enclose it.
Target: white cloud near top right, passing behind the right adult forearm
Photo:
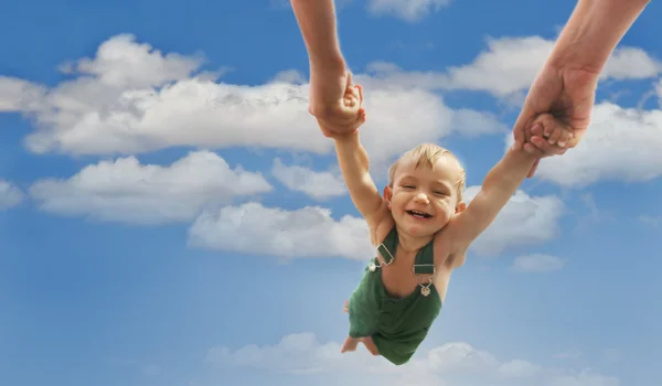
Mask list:
[[[445,72],[405,72],[392,63],[373,63],[369,71],[374,79],[365,83],[401,85],[424,89],[469,89],[496,97],[511,97],[526,90],[552,53],[555,41],[541,36],[490,37],[487,50],[473,62],[452,66]],[[662,73],[662,62],[638,47],[615,50],[602,79],[653,78]]]

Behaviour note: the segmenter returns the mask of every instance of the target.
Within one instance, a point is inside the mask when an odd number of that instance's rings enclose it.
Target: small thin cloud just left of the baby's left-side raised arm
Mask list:
[[[348,193],[342,174],[339,173],[316,172],[297,165],[288,167],[280,159],[275,159],[271,174],[290,191],[302,192],[316,200],[327,200]]]

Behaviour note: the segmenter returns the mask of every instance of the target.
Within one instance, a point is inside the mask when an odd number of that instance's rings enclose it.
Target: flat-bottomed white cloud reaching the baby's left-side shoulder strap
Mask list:
[[[282,261],[311,257],[365,261],[374,256],[364,219],[334,219],[330,210],[318,206],[286,211],[246,203],[205,211],[189,236],[195,247],[275,256]]]

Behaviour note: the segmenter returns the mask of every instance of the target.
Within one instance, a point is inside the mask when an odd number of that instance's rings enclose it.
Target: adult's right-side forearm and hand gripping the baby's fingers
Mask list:
[[[598,77],[622,36],[650,0],[579,0],[554,50],[534,81],[514,125],[516,142],[531,154],[563,154],[581,140],[590,124]],[[538,114],[551,112],[574,132],[567,147],[532,132]],[[538,161],[531,169],[533,176]]]

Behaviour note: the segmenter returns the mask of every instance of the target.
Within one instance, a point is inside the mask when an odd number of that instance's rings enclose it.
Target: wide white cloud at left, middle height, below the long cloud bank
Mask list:
[[[215,153],[197,151],[167,167],[134,157],[100,161],[67,180],[40,180],[30,194],[50,213],[158,224],[192,221],[209,206],[271,190],[259,173],[231,170]]]

